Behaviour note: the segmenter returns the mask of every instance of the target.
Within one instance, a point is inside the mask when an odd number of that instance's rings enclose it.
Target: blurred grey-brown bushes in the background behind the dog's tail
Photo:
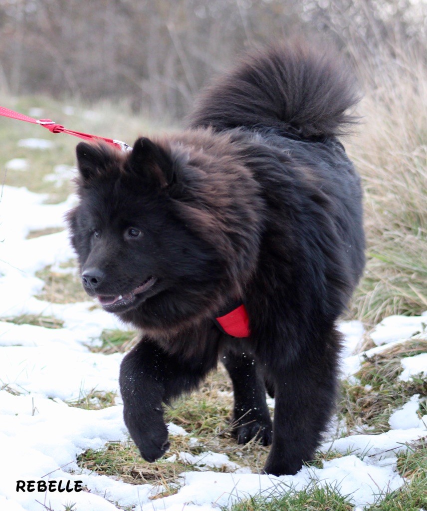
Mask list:
[[[381,67],[379,48],[395,58],[397,39],[422,46],[422,9],[411,0],[0,0],[0,89],[125,98],[134,111],[179,119],[248,45],[321,34],[353,62]]]

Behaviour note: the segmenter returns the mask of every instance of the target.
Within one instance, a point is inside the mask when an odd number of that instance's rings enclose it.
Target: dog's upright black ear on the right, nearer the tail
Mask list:
[[[129,165],[138,176],[157,187],[166,188],[174,180],[171,156],[147,137],[138,138],[135,142]]]

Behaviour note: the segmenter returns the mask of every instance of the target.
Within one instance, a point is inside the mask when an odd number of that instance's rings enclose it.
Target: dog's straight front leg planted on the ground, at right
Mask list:
[[[270,371],[275,386],[273,443],[264,471],[296,474],[311,461],[335,409],[339,334],[332,330],[310,353]]]

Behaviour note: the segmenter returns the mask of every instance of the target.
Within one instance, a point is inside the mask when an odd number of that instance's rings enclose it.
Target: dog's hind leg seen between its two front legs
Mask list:
[[[264,446],[270,445],[272,423],[264,381],[256,370],[255,360],[249,353],[233,350],[225,351],[220,360],[233,383],[233,434],[238,444],[246,444],[255,437]]]

